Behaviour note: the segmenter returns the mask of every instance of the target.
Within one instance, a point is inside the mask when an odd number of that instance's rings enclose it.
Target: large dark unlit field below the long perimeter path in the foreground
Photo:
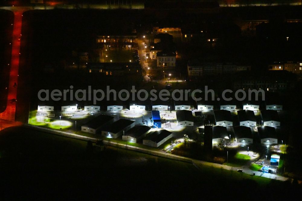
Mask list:
[[[196,188],[201,188],[211,198],[218,199],[220,195],[214,193],[217,188],[231,192],[236,186],[240,193],[250,192],[250,186],[258,193],[262,189],[283,188],[279,181],[272,183],[270,179],[236,170],[199,165],[199,171],[190,163],[120,148],[106,147],[104,151],[88,153],[86,146],[85,141],[23,127],[2,130],[2,197],[29,195],[87,200],[91,196],[105,199],[114,195],[115,199],[127,195],[128,199],[135,199],[151,190],[164,199],[193,199]],[[132,162],[120,162],[125,160]],[[136,189],[136,193],[129,193],[129,188]],[[228,197],[235,198],[238,192]]]

